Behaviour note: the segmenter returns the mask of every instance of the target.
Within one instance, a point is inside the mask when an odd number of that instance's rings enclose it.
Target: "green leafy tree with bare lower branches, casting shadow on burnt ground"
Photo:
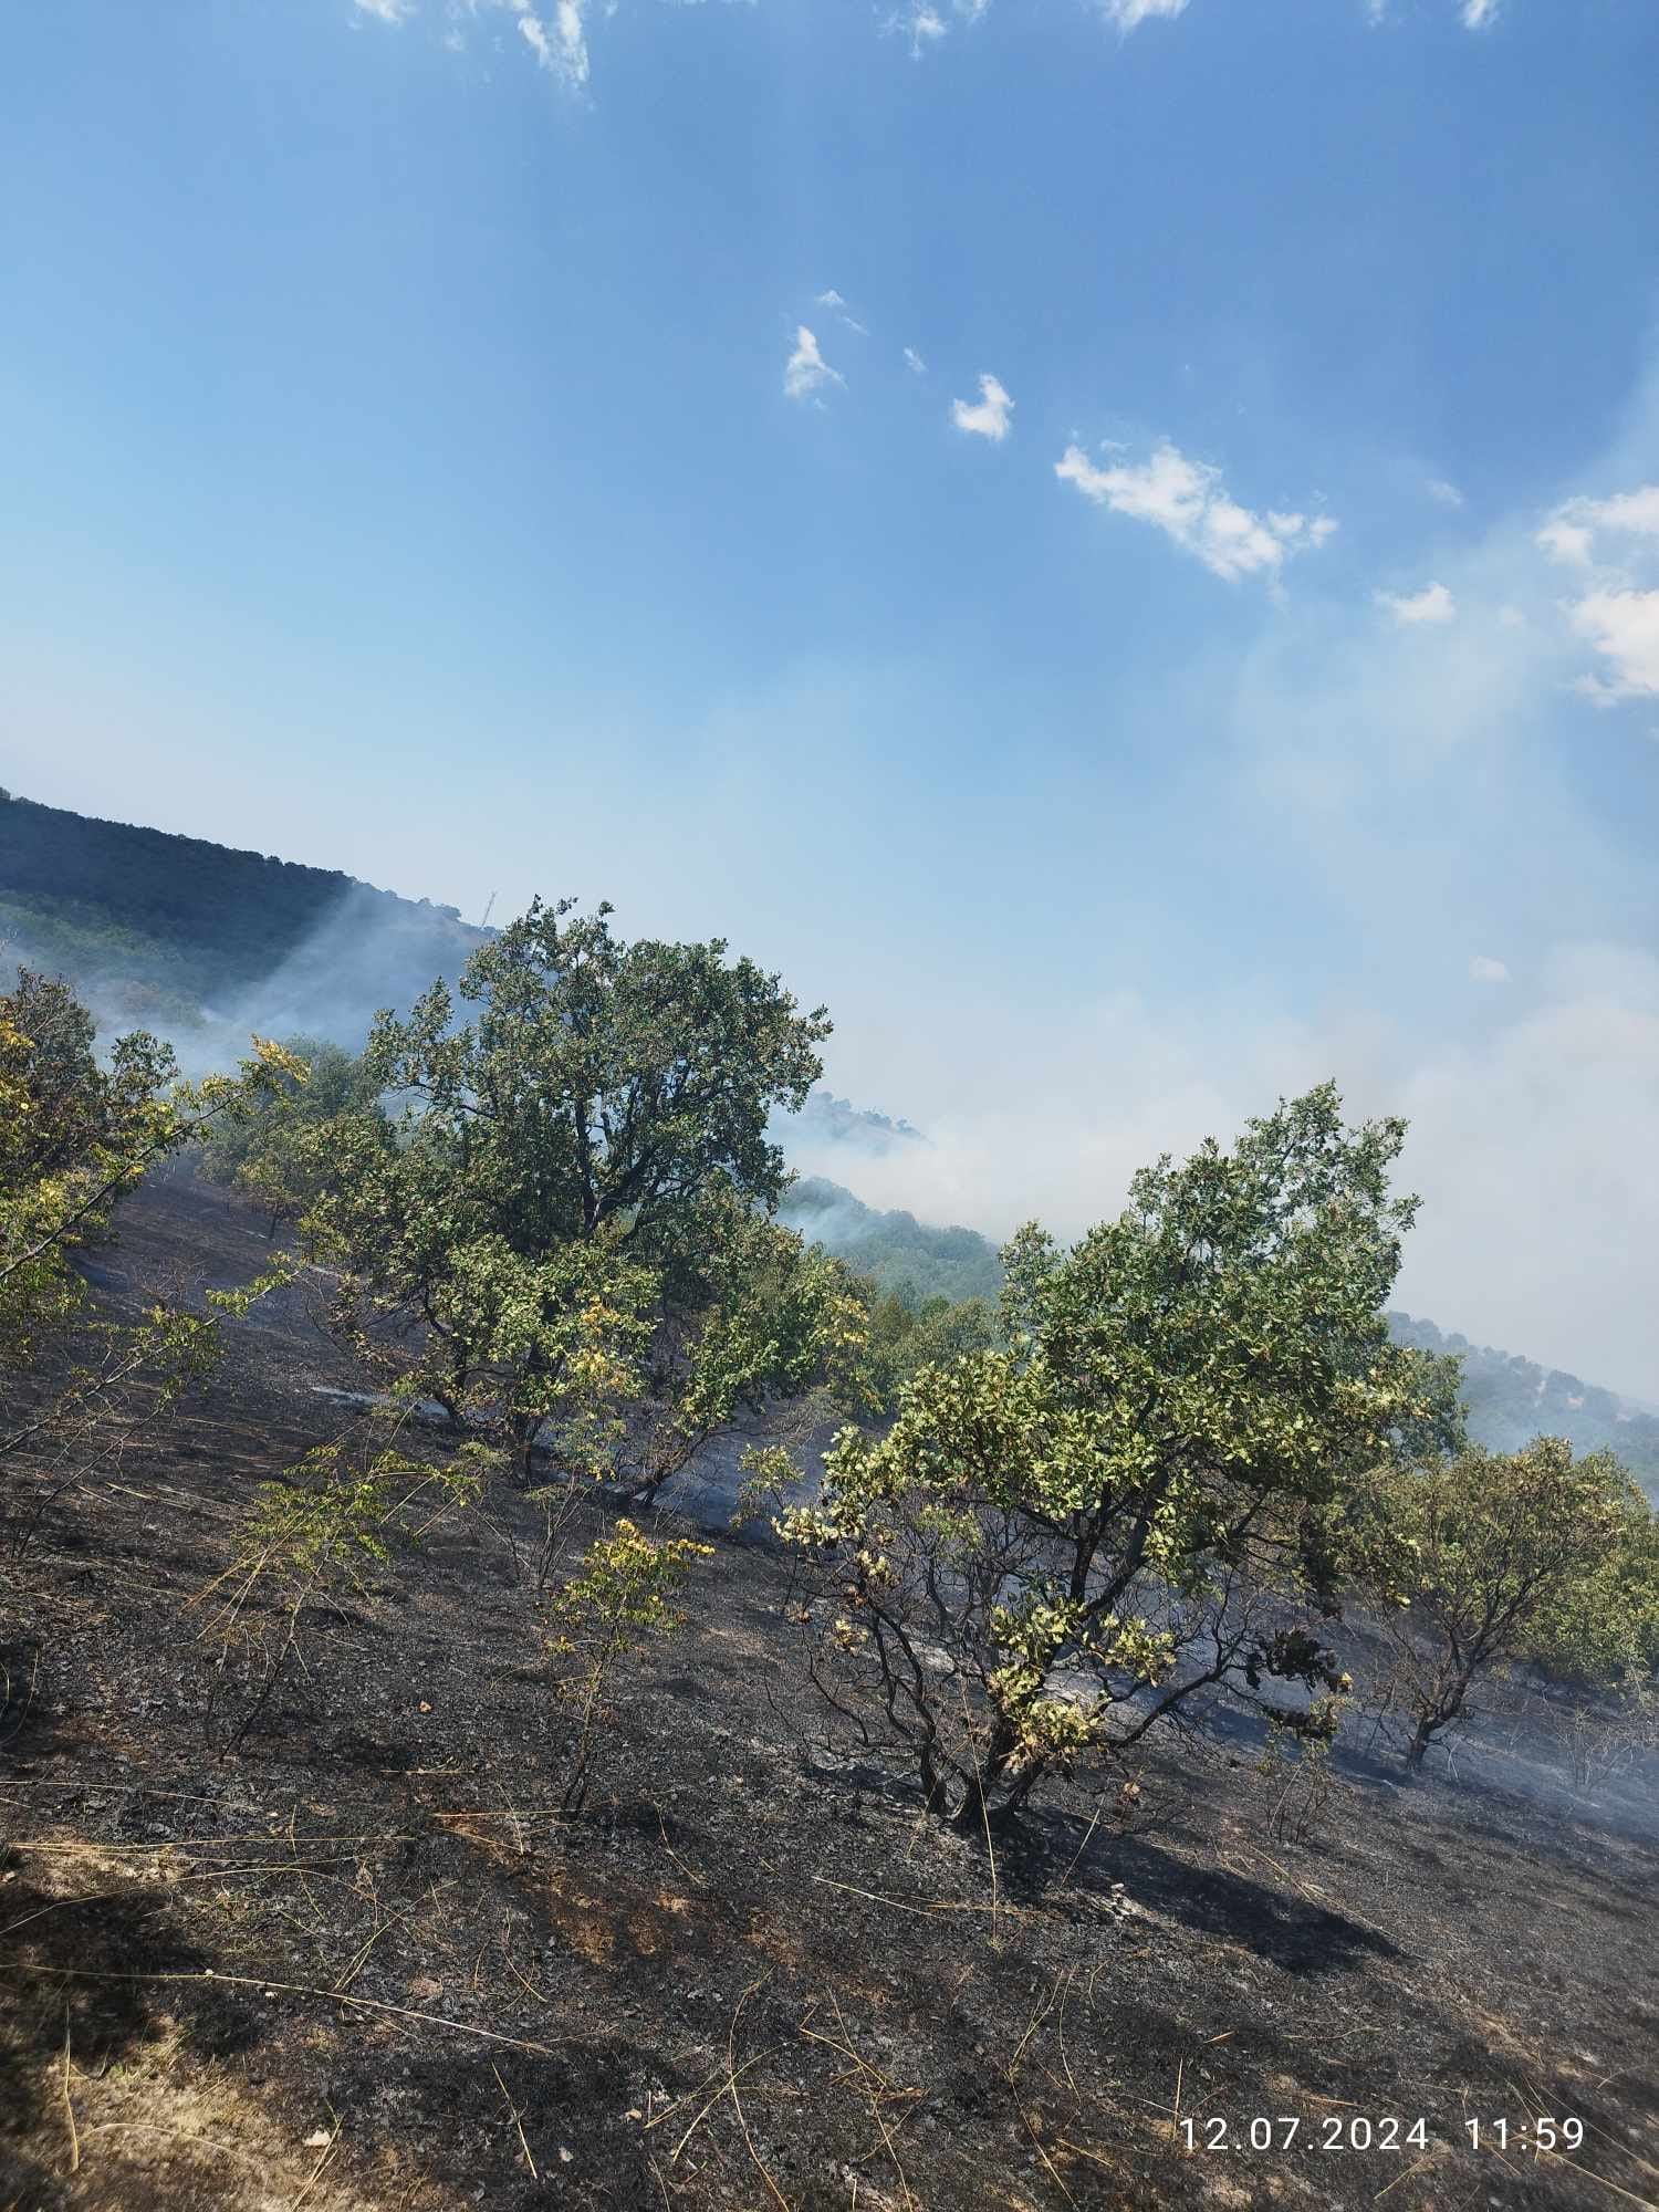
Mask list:
[[[1206,1683],[1345,1688],[1310,1624],[1345,1480],[1447,1385],[1383,1321],[1416,1210],[1387,1188],[1402,1135],[1345,1128],[1323,1086],[1232,1152],[1146,1168],[1071,1252],[1022,1230],[1006,1349],[920,1369],[891,1431],[843,1431],[818,1502],[781,1517],[832,1710],[929,1807],[1015,1812]]]

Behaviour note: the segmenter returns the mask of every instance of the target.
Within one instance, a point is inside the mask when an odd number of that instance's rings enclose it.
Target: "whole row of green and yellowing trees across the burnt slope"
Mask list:
[[[411,1500],[467,1511],[511,1482],[546,1506],[580,1801],[611,1670],[695,1590],[701,1546],[648,1509],[714,1436],[792,1411],[748,1464],[803,1677],[830,1734],[958,1827],[1124,1772],[1219,1690],[1314,1756],[1356,1697],[1345,1608],[1396,1652],[1413,1770],[1509,1666],[1608,1712],[1650,1699],[1659,1537],[1628,1471],[1559,1438],[1473,1449],[1458,1358],[1389,1332],[1405,1124],[1349,1126],[1325,1084],[1150,1164],[1071,1248],[1024,1228],[995,1303],[920,1303],[779,1219],[772,1117],[827,1033],[726,942],[626,942],[568,900],[363,1053],[257,1042],[206,1086],[144,1035],[100,1060],[73,995],[24,975],[0,998],[0,1471],[51,1431],[69,1480],[115,1369],[166,1418],[221,1356],[215,1318],[166,1307],[111,1329],[104,1365],[53,1356],[91,1325],[77,1256],[195,1148],[272,1232],[270,1274],[219,1303],[307,1270],[369,1385],[361,1431],[283,1471],[226,1564],[281,1593],[265,1688],[310,1597],[389,1557]],[[442,1427],[411,1449],[418,1409]],[[812,1484],[799,1438],[825,1418]],[[580,1495],[619,1517],[546,1590]]]

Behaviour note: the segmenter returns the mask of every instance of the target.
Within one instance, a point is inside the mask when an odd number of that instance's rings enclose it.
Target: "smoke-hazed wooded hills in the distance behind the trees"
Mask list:
[[[338,869],[204,838],[95,821],[0,790],[0,989],[24,960],[69,978],[106,1029],[153,1026],[186,1062],[234,1057],[248,1031],[358,1046],[378,1006],[407,1006],[434,975],[458,975],[487,931],[456,907],[398,898]],[[814,1141],[891,1152],[927,1139],[814,1091],[801,1124]],[[787,1146],[790,1126],[776,1137]],[[995,1298],[989,1237],[878,1212],[825,1177],[794,1186],[785,1219],[914,1307]],[[1431,1321],[1389,1314],[1400,1343],[1460,1352],[1475,1442],[1515,1451],[1533,1436],[1601,1444],[1659,1495],[1659,1418],[1615,1391],[1471,1345]]]

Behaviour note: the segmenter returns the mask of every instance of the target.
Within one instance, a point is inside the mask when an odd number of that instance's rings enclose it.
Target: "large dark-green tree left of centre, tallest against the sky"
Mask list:
[[[524,1480],[549,1444],[628,1458],[655,1493],[739,1405],[845,1367],[856,1314],[845,1272],[768,1219],[768,1115],[816,1079],[823,1009],[721,940],[624,945],[608,911],[538,900],[467,964],[467,1024],[445,984],[376,1022],[396,1141],[327,1126],[305,1239],[341,1270],[341,1327],[509,1440]]]

